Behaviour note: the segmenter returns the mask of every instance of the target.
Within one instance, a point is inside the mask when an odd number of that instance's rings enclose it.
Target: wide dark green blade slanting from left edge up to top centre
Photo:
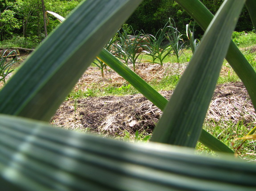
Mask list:
[[[141,0],[86,0],[0,91],[0,113],[49,121]]]

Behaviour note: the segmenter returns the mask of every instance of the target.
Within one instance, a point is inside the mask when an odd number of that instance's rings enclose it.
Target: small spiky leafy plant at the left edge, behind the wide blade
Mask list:
[[[11,70],[12,64],[14,64],[17,60],[17,58],[13,58],[10,61],[7,61],[7,58],[11,55],[17,55],[16,51],[9,51],[4,50],[1,54],[1,60],[0,60],[0,82],[3,81],[6,82],[5,78],[8,76],[8,74],[12,73],[13,70]]]

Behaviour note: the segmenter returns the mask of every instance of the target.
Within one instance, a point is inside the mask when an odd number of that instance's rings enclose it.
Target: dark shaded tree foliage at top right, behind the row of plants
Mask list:
[[[223,2],[223,0],[201,1],[213,14],[218,11],[220,4]],[[127,23],[135,30],[143,29],[146,33],[154,35],[159,28],[164,26],[169,17],[175,20],[176,27],[183,34],[186,33],[186,24],[193,20],[174,0],[143,0],[142,4],[135,10]],[[245,7],[235,30],[252,30],[250,16]],[[203,30],[198,25],[195,26],[195,31],[199,37],[203,35]]]

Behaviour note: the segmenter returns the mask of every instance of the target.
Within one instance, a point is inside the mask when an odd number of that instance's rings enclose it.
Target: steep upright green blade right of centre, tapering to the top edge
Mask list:
[[[245,0],[225,0],[164,109],[151,140],[195,147]]]

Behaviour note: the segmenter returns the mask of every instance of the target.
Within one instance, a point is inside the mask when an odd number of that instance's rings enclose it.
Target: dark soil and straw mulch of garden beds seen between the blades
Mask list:
[[[146,81],[161,79],[170,70],[175,74],[182,74],[185,64],[165,64],[163,67],[152,64],[137,66],[137,74]],[[223,66],[224,75],[230,68]],[[96,67],[89,67],[77,83],[75,89],[85,89],[92,84],[102,87],[112,83],[122,86],[125,82],[113,70],[105,71],[105,78],[101,77]],[[164,97],[171,97],[172,90],[161,91]],[[52,124],[69,129],[92,131],[104,135],[123,136],[126,133],[150,134],[158,122],[162,112],[141,94],[126,96],[87,97],[63,102],[52,118]],[[210,121],[238,121],[255,123],[256,114],[248,93],[242,82],[232,82],[216,86],[214,96],[209,107],[206,120]]]

